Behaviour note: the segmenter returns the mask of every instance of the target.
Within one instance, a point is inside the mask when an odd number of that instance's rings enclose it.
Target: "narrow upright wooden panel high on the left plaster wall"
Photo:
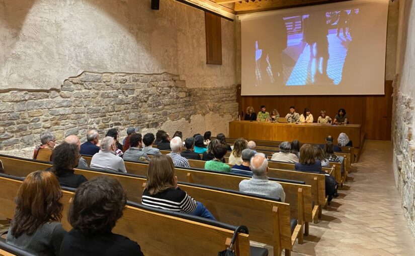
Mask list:
[[[206,64],[222,65],[222,28],[220,17],[205,12]]]

